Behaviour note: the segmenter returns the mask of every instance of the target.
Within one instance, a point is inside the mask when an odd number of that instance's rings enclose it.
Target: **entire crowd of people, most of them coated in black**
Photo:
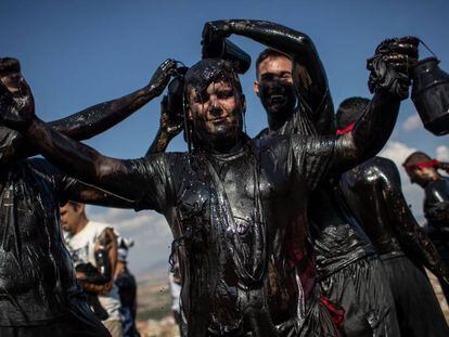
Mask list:
[[[253,139],[239,79],[247,57],[211,48],[231,35],[267,48],[254,91],[268,126]],[[424,272],[449,293],[449,180],[437,171],[447,164],[423,153],[405,163],[426,192],[423,231],[398,168],[376,156],[408,98],[419,39],[382,41],[368,60],[371,100],[336,113],[306,34],[215,21],[202,44],[193,66],[167,60],[142,89],[47,124],[18,61],[0,59],[0,335],[136,336],[130,243],[88,220],[86,203],[165,216],[182,336],[449,336]],[[79,142],[167,86],[144,157]],[[188,152],[165,153],[180,132]],[[46,159],[27,159],[37,153]]]

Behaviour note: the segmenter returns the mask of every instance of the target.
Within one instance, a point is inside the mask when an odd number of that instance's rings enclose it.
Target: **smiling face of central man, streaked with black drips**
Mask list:
[[[189,90],[189,118],[196,141],[211,148],[232,147],[242,134],[244,102],[232,83],[213,81],[203,91]]]

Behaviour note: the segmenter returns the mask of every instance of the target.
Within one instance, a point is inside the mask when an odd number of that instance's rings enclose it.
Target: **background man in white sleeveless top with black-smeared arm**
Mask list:
[[[90,296],[92,310],[113,337],[123,337],[120,298],[114,284],[117,267],[117,237],[111,225],[90,221],[85,205],[68,202],[60,209],[76,277]],[[100,303],[92,299],[97,299]]]

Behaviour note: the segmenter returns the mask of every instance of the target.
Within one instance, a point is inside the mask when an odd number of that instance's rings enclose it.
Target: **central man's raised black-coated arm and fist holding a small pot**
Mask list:
[[[411,83],[409,69],[418,60],[418,39],[388,39],[369,60],[369,87],[374,95],[351,132],[339,135],[330,170],[342,173],[379,153],[396,124],[400,101]]]

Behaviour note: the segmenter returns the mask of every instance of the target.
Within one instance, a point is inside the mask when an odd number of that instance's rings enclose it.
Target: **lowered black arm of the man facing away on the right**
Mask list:
[[[436,247],[421,230],[401,191],[400,176],[389,160],[381,168],[384,191],[384,205],[390,223],[399,238],[402,249],[418,265],[424,265],[438,278],[449,282],[449,270],[442,262]]]

